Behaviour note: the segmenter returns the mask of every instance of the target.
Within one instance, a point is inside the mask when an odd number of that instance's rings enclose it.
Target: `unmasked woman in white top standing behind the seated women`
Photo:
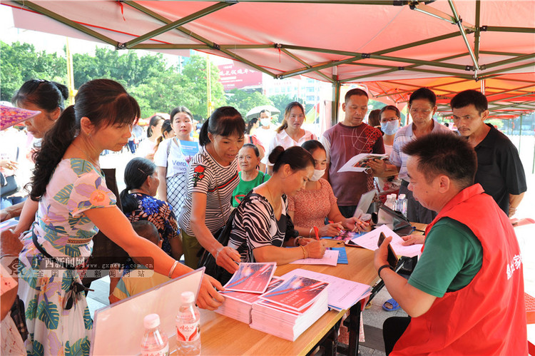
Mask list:
[[[273,171],[273,166],[267,162],[267,157],[275,147],[282,146],[286,149],[299,146],[308,140],[317,139],[314,133],[301,128],[303,122],[305,122],[305,108],[297,101],[292,101],[286,106],[282,125],[275,130],[275,136],[271,139],[266,155],[262,160],[262,163],[267,166],[267,173],[271,174]]]

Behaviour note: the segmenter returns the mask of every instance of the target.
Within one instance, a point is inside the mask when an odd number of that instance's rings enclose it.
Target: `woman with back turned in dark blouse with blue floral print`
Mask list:
[[[182,240],[173,208],[166,201],[154,198],[159,183],[156,165],[147,158],[133,158],[126,164],[124,183],[121,205],[126,218],[131,222],[148,220],[153,223],[163,240],[162,250],[180,260]]]

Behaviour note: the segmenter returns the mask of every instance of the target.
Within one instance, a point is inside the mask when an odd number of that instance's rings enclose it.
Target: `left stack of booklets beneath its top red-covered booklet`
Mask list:
[[[280,285],[284,280],[282,278],[273,277],[270,284],[267,286],[267,292]],[[225,290],[220,292],[225,301],[223,304],[215,310],[219,314],[227,317],[232,317],[240,322],[246,324],[251,323],[251,307],[253,302],[260,300],[260,294],[247,293],[247,292],[235,292],[233,290]]]

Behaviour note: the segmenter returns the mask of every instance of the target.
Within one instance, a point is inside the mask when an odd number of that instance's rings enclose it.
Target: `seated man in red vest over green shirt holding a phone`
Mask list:
[[[463,138],[430,133],[407,143],[409,190],[438,213],[409,280],[374,265],[410,317],[383,325],[387,355],[527,355],[522,260],[503,210],[474,184],[477,158]]]

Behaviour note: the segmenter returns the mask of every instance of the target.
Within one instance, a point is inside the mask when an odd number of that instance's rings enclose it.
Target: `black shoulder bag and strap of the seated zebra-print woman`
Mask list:
[[[253,190],[251,190],[248,195],[245,195],[245,198],[241,201],[240,205],[248,202],[250,200],[250,195],[253,193]],[[240,208],[240,205],[238,205],[238,208]],[[230,232],[233,228],[233,222],[234,217],[236,215],[236,212],[238,211],[238,208],[235,208],[228,217],[227,222],[225,223],[225,226],[223,228],[220,228],[218,232],[216,232],[214,235],[217,235],[218,237],[216,240],[218,240],[218,243],[220,243],[223,246],[228,245],[228,240],[230,240]],[[225,268],[219,266],[217,263],[215,263],[215,257],[211,253],[209,253],[204,248],[200,249],[200,259],[198,263],[198,268],[205,267],[204,273],[212,276],[216,280],[218,280],[222,285],[225,285],[230,278],[233,276],[231,273],[228,273]]]

